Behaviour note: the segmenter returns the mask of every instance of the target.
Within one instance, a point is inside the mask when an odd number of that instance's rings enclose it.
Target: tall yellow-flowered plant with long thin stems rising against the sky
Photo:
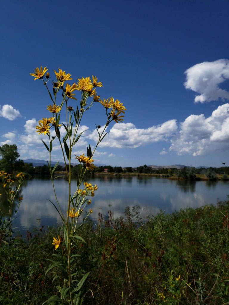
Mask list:
[[[42,142],[49,152],[49,161],[47,162],[56,199],[56,203],[52,202],[52,204],[63,221],[64,236],[60,236],[60,234],[58,238],[53,237],[53,245],[55,246],[55,251],[57,252],[54,254],[54,256],[57,258],[57,261],[51,260],[53,264],[47,270],[48,272],[51,269],[56,270],[55,267],[59,267],[59,270],[61,271],[57,273],[54,278],[58,278],[60,280],[60,277],[62,276],[62,286],[58,286],[60,297],[57,295],[52,296],[46,302],[57,301],[62,304],[65,302],[73,305],[79,304],[82,301],[80,297],[81,288],[89,275],[88,272],[84,274],[81,279],[77,278],[78,272],[76,272],[74,269],[77,266],[75,263],[77,255],[73,253],[77,248],[77,240],[85,242],[82,237],[78,235],[78,230],[84,223],[85,219],[91,213],[93,213],[93,210],[90,209],[81,221],[80,219],[82,219],[82,217],[80,217],[80,215],[84,212],[86,206],[91,203],[90,197],[93,197],[95,195],[95,191],[97,190],[96,185],[92,185],[84,181],[85,173],[89,170],[94,170],[95,168],[95,165],[93,164],[93,155],[99,143],[107,135],[107,126],[112,121],[116,123],[122,122],[124,117],[123,113],[125,113],[126,108],[120,101],[118,101],[118,99],[114,101],[113,97],[104,100],[100,99],[100,95],[97,95],[96,90],[99,87],[103,87],[103,84],[102,82],[98,81],[95,76],[92,76],[92,79],[90,77],[78,78],[78,82],[69,84],[66,82],[72,80],[71,74],[66,74],[65,71],[59,69],[59,71],[54,70],[56,80],[49,82],[50,74],[47,72],[47,70],[47,67],[43,69],[41,66],[40,68],[36,68],[34,73],[31,73],[34,80],[39,79],[42,81],[51,99],[51,104],[47,106],[50,117],[43,117],[41,120],[39,120],[39,125],[36,126],[36,132],[38,132],[39,135],[44,134],[47,136],[48,142],[43,140]],[[48,85],[50,85],[51,88]],[[81,93],[79,102],[76,98],[76,93],[78,91]],[[80,170],[77,174],[77,188],[72,190],[71,162],[72,158],[74,157],[73,149],[84,132],[78,132],[79,126],[81,124],[82,117],[84,117],[86,112],[95,106],[95,104],[97,104],[96,106],[103,106],[106,121],[104,128],[101,128],[100,125],[96,125],[98,140],[94,146],[94,149],[91,149],[91,146],[89,145],[85,153],[80,156],[75,155],[75,158],[80,164]],[[60,133],[60,126],[64,127],[63,134]],[[54,134],[53,136],[50,135],[52,129]],[[59,200],[56,196],[53,181],[53,173],[59,163],[57,162],[53,168],[51,167],[51,152],[54,140],[59,142],[66,168],[66,180],[68,183],[67,211],[63,211],[61,209]]]

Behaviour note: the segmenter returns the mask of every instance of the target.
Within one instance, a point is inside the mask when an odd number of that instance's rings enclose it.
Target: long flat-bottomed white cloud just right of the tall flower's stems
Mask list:
[[[177,130],[176,120],[169,120],[163,124],[146,129],[138,129],[133,123],[115,124],[100,147],[136,148],[150,143],[167,140]],[[98,140],[97,131],[94,130],[89,139]]]

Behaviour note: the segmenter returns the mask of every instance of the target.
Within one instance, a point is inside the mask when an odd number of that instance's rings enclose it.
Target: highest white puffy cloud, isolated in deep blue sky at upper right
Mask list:
[[[187,69],[185,74],[185,88],[198,93],[195,103],[229,99],[229,92],[219,88],[219,84],[229,79],[228,59],[198,63]]]

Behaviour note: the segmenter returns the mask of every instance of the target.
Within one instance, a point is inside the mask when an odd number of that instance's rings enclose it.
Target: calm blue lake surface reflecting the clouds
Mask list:
[[[90,178],[88,182],[99,187],[90,205],[93,209],[91,218],[95,222],[99,212],[106,216],[108,210],[113,212],[114,218],[123,216],[126,206],[139,205],[142,216],[155,215],[160,210],[172,213],[185,207],[199,207],[209,203],[215,205],[217,200],[227,200],[229,195],[229,181],[190,182],[149,176],[102,175]],[[61,207],[63,211],[67,211],[67,182],[58,178],[55,180],[55,187]],[[75,187],[76,181],[73,181],[72,189],[75,190]],[[49,177],[34,177],[25,181],[21,195],[23,201],[15,225],[22,234],[40,224],[62,224],[57,211],[48,201],[49,199],[55,203]],[[5,203],[2,209],[6,210]],[[37,219],[41,219],[40,222]]]

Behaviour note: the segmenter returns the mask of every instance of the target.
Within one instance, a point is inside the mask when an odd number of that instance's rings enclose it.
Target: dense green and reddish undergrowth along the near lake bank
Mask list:
[[[140,217],[138,207],[125,219],[99,214],[87,222],[74,249],[73,269],[80,278],[91,271],[83,304],[228,304],[229,201],[173,214]],[[1,224],[0,303],[42,304],[63,285],[59,270],[48,272],[53,236],[63,228],[38,228],[9,247]],[[55,302],[50,302],[55,304]]]

